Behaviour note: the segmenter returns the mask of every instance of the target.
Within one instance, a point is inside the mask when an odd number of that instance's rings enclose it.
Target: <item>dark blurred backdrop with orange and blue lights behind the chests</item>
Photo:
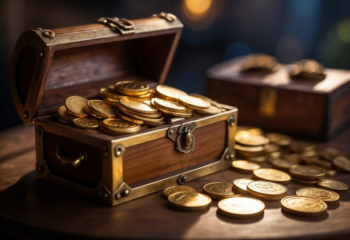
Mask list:
[[[173,13],[184,24],[166,85],[206,94],[205,71],[254,52],[282,63],[313,58],[349,69],[349,0],[1,0],[0,130],[23,124],[10,93],[9,69],[18,37],[34,28]]]

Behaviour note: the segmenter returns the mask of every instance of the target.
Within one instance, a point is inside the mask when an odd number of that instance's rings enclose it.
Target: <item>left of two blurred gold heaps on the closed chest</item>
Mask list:
[[[278,59],[267,54],[250,54],[241,59],[242,71],[274,71]]]

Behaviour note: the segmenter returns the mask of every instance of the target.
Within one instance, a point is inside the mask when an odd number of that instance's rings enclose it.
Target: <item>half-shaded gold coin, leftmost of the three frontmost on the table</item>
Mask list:
[[[199,192],[176,192],[168,200],[177,209],[186,211],[204,210],[211,204],[211,198]]]

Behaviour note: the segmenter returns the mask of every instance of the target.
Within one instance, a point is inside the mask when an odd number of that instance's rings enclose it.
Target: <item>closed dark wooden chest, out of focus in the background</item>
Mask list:
[[[315,140],[333,136],[350,119],[349,70],[325,69],[324,79],[291,78],[288,66],[242,71],[242,58],[207,71],[208,97],[241,109],[239,122]]]

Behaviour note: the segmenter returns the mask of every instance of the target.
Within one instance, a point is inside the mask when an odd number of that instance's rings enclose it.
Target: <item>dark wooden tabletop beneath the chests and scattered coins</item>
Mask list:
[[[349,129],[318,149],[337,147],[349,155]],[[268,163],[262,167],[269,167]],[[18,126],[0,133],[0,239],[349,239],[350,194],[340,193],[340,204],[329,206],[316,218],[289,215],[280,201],[266,201],[263,216],[237,220],[209,210],[172,209],[162,191],[109,207],[93,199],[35,177],[33,126]],[[187,185],[200,192],[210,182],[250,178],[232,169],[202,177]],[[350,185],[350,174],[330,178]],[[288,195],[306,186],[291,182]]]

